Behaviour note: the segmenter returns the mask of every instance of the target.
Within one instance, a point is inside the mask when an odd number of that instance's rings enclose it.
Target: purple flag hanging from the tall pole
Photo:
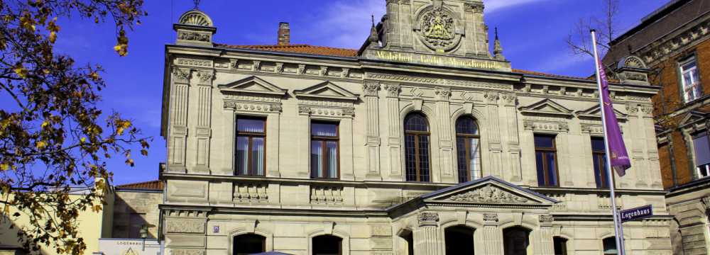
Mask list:
[[[599,69],[599,77],[601,79],[601,91],[599,91],[599,96],[601,96],[603,102],[604,123],[606,123],[605,135],[609,146],[608,152],[611,154],[611,168],[616,170],[619,176],[624,176],[626,175],[626,169],[631,167],[631,161],[628,159],[626,145],[623,143],[619,123],[618,120],[616,120],[616,113],[614,113],[614,107],[613,104],[611,104],[611,98],[609,98],[609,81],[606,79],[606,72],[604,72],[603,65],[599,59],[596,60],[596,63],[596,68]]]

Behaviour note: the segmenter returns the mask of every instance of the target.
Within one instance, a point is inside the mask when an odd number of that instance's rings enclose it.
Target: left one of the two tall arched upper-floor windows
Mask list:
[[[430,181],[429,123],[421,113],[410,113],[404,120],[405,165],[407,181]]]

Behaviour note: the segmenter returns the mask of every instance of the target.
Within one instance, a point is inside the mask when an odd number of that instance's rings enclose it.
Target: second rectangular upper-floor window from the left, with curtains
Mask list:
[[[311,177],[338,179],[340,177],[337,123],[311,123]]]

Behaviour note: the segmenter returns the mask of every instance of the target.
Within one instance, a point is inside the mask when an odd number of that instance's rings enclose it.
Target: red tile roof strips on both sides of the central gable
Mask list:
[[[217,47],[231,48],[231,49],[249,49],[249,50],[266,50],[273,52],[290,52],[290,53],[302,53],[302,54],[312,54],[312,55],[322,55],[322,56],[334,56],[334,57],[357,57],[358,50],[352,49],[342,49],[336,47],[323,47],[305,44],[295,44],[295,45],[226,45],[221,43],[214,44]],[[547,74],[543,72],[533,72],[527,70],[513,69],[513,72],[519,74],[529,74],[540,77],[550,77],[550,78],[560,78],[560,79],[589,79],[595,80],[594,77],[569,77],[557,74]]]

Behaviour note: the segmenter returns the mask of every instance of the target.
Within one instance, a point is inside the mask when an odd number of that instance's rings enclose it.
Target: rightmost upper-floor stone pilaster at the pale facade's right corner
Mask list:
[[[644,135],[646,140],[646,159],[648,163],[649,175],[646,176],[645,183],[651,186],[651,188],[662,188],[661,174],[660,174],[660,162],[658,157],[658,145],[656,141],[656,131],[655,123],[653,121],[653,106],[646,105],[641,106],[641,111],[643,112],[643,126]]]

